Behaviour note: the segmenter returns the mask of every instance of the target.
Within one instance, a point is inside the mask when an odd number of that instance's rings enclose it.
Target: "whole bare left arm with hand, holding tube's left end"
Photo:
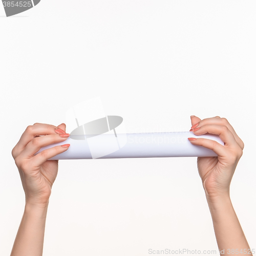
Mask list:
[[[36,156],[34,154],[42,146],[64,142],[69,136],[65,129],[65,124],[56,127],[35,123],[27,127],[12,150],[25,191],[26,205],[11,256],[42,255],[48,203],[58,172],[58,160],[47,159],[65,152],[69,144],[63,143],[65,146],[55,146]],[[66,137],[61,137],[61,134]]]

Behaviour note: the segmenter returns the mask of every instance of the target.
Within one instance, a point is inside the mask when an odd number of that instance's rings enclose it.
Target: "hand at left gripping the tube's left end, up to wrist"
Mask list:
[[[58,172],[58,160],[47,160],[68,150],[70,144],[54,146],[34,155],[42,146],[64,142],[64,123],[57,127],[50,124],[29,125],[12,150],[25,191],[26,204],[47,205],[51,188]],[[63,136],[63,137],[61,137]]]

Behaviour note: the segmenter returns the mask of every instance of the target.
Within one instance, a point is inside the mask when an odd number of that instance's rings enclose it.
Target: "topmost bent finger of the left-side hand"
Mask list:
[[[55,134],[57,126],[51,124],[35,124],[29,125],[25,132],[20,137],[18,143],[13,148],[13,157],[17,156],[21,151],[24,150],[25,146],[36,136]]]

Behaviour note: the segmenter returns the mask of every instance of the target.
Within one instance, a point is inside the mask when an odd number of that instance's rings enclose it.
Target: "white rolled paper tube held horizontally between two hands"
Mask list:
[[[76,137],[78,136],[78,137]],[[81,137],[83,137],[81,139]],[[97,136],[96,136],[97,137]],[[86,138],[86,135],[73,135],[61,143],[51,144],[42,147],[36,154],[47,148],[70,144],[67,151],[58,154],[49,160],[61,159],[92,159],[92,158],[145,158],[145,157],[212,157],[217,154],[203,146],[193,145],[187,138],[204,138],[215,140],[221,145],[223,141],[218,135],[204,134],[197,136],[193,132],[167,132],[167,133],[130,133],[117,134],[116,139],[124,141],[125,144],[120,147],[117,142],[117,149],[113,148],[112,153],[104,155],[106,148],[110,146],[110,140],[113,139],[111,134],[100,135],[99,140],[92,144]],[[116,140],[117,141],[117,140]],[[111,145],[113,147],[113,145]],[[100,157],[92,157],[92,148]]]

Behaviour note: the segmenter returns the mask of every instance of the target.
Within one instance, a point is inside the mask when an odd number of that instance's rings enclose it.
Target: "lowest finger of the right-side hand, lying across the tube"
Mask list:
[[[191,139],[195,139],[195,140],[189,140],[193,145],[209,148],[209,150],[214,151],[220,157],[227,156],[228,149],[215,140],[209,140],[209,139],[203,139],[203,138],[191,138]]]

